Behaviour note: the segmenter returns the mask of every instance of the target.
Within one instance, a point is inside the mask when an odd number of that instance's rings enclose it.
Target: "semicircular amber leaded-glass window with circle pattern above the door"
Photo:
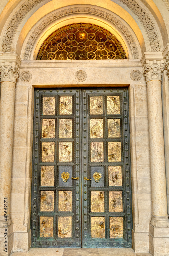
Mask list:
[[[74,23],[49,35],[41,45],[37,60],[126,59],[117,38],[103,27]]]

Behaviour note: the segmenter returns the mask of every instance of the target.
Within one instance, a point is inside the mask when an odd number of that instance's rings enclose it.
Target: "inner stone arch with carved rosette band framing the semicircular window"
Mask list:
[[[96,19],[96,17],[99,20],[103,20],[103,25],[104,23],[110,24],[111,27],[116,29],[121,35],[125,41],[125,45],[127,45],[128,52],[129,52],[129,58],[130,59],[139,59],[141,58],[141,49],[138,44],[138,40],[132,29],[128,26],[127,23],[124,22],[122,18],[119,18],[117,15],[114,13],[104,9],[104,8],[99,8],[95,6],[90,6],[90,5],[75,5],[73,7],[69,6],[67,8],[62,8],[59,9],[55,12],[51,12],[50,14],[46,15],[43,17],[43,19],[39,20],[34,26],[27,38],[25,38],[25,42],[23,45],[22,53],[21,53],[21,59],[23,60],[32,60],[36,58],[37,51],[39,50],[40,46],[38,45],[38,41],[40,38],[42,38],[43,34],[45,33],[44,31],[48,31],[50,26],[53,26],[53,31],[56,30],[54,24],[58,24],[61,19],[65,17],[65,19],[68,19],[71,17],[71,15],[78,17],[78,15],[82,14],[88,14],[90,15],[90,18],[93,17]],[[70,20],[68,23],[71,23]],[[96,24],[98,25],[98,24]],[[62,27],[62,26],[59,26]],[[48,33],[50,34],[50,33]],[[48,36],[46,34],[46,38]],[[45,38],[44,38],[45,39]],[[42,40],[42,39],[41,39]],[[42,42],[41,42],[42,43]],[[41,45],[41,44],[40,44]]]

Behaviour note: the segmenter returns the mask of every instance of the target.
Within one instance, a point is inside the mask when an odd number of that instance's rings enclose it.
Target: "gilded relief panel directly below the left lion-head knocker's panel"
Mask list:
[[[72,211],[72,191],[59,191],[58,211]]]

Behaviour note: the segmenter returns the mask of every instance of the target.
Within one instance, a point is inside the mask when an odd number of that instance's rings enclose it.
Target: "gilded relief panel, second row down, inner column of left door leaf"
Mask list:
[[[72,119],[59,119],[59,138],[72,138]]]

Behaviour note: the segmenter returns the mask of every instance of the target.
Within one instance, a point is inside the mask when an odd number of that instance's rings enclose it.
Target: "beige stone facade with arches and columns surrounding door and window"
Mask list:
[[[110,31],[127,59],[36,60],[45,38],[78,22]],[[87,74],[83,82],[75,78],[79,70]],[[34,88],[123,86],[129,88],[132,248],[169,255],[168,0],[1,0],[0,77],[0,255],[31,245]]]

